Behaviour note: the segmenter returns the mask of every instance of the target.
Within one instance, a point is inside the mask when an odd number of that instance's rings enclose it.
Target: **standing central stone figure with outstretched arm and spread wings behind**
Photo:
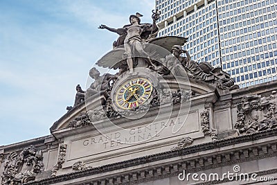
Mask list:
[[[152,12],[152,24],[141,24],[140,17],[143,15],[137,12],[136,15],[129,16],[130,24],[123,28],[100,25],[99,28],[117,33],[119,37],[113,44],[114,49],[100,58],[96,64],[99,67],[120,69],[120,73],[128,69],[132,71],[136,67],[156,67],[153,59],[165,58],[174,45],[184,45],[187,40],[185,37],[157,37],[159,28],[156,21],[160,12]]]

